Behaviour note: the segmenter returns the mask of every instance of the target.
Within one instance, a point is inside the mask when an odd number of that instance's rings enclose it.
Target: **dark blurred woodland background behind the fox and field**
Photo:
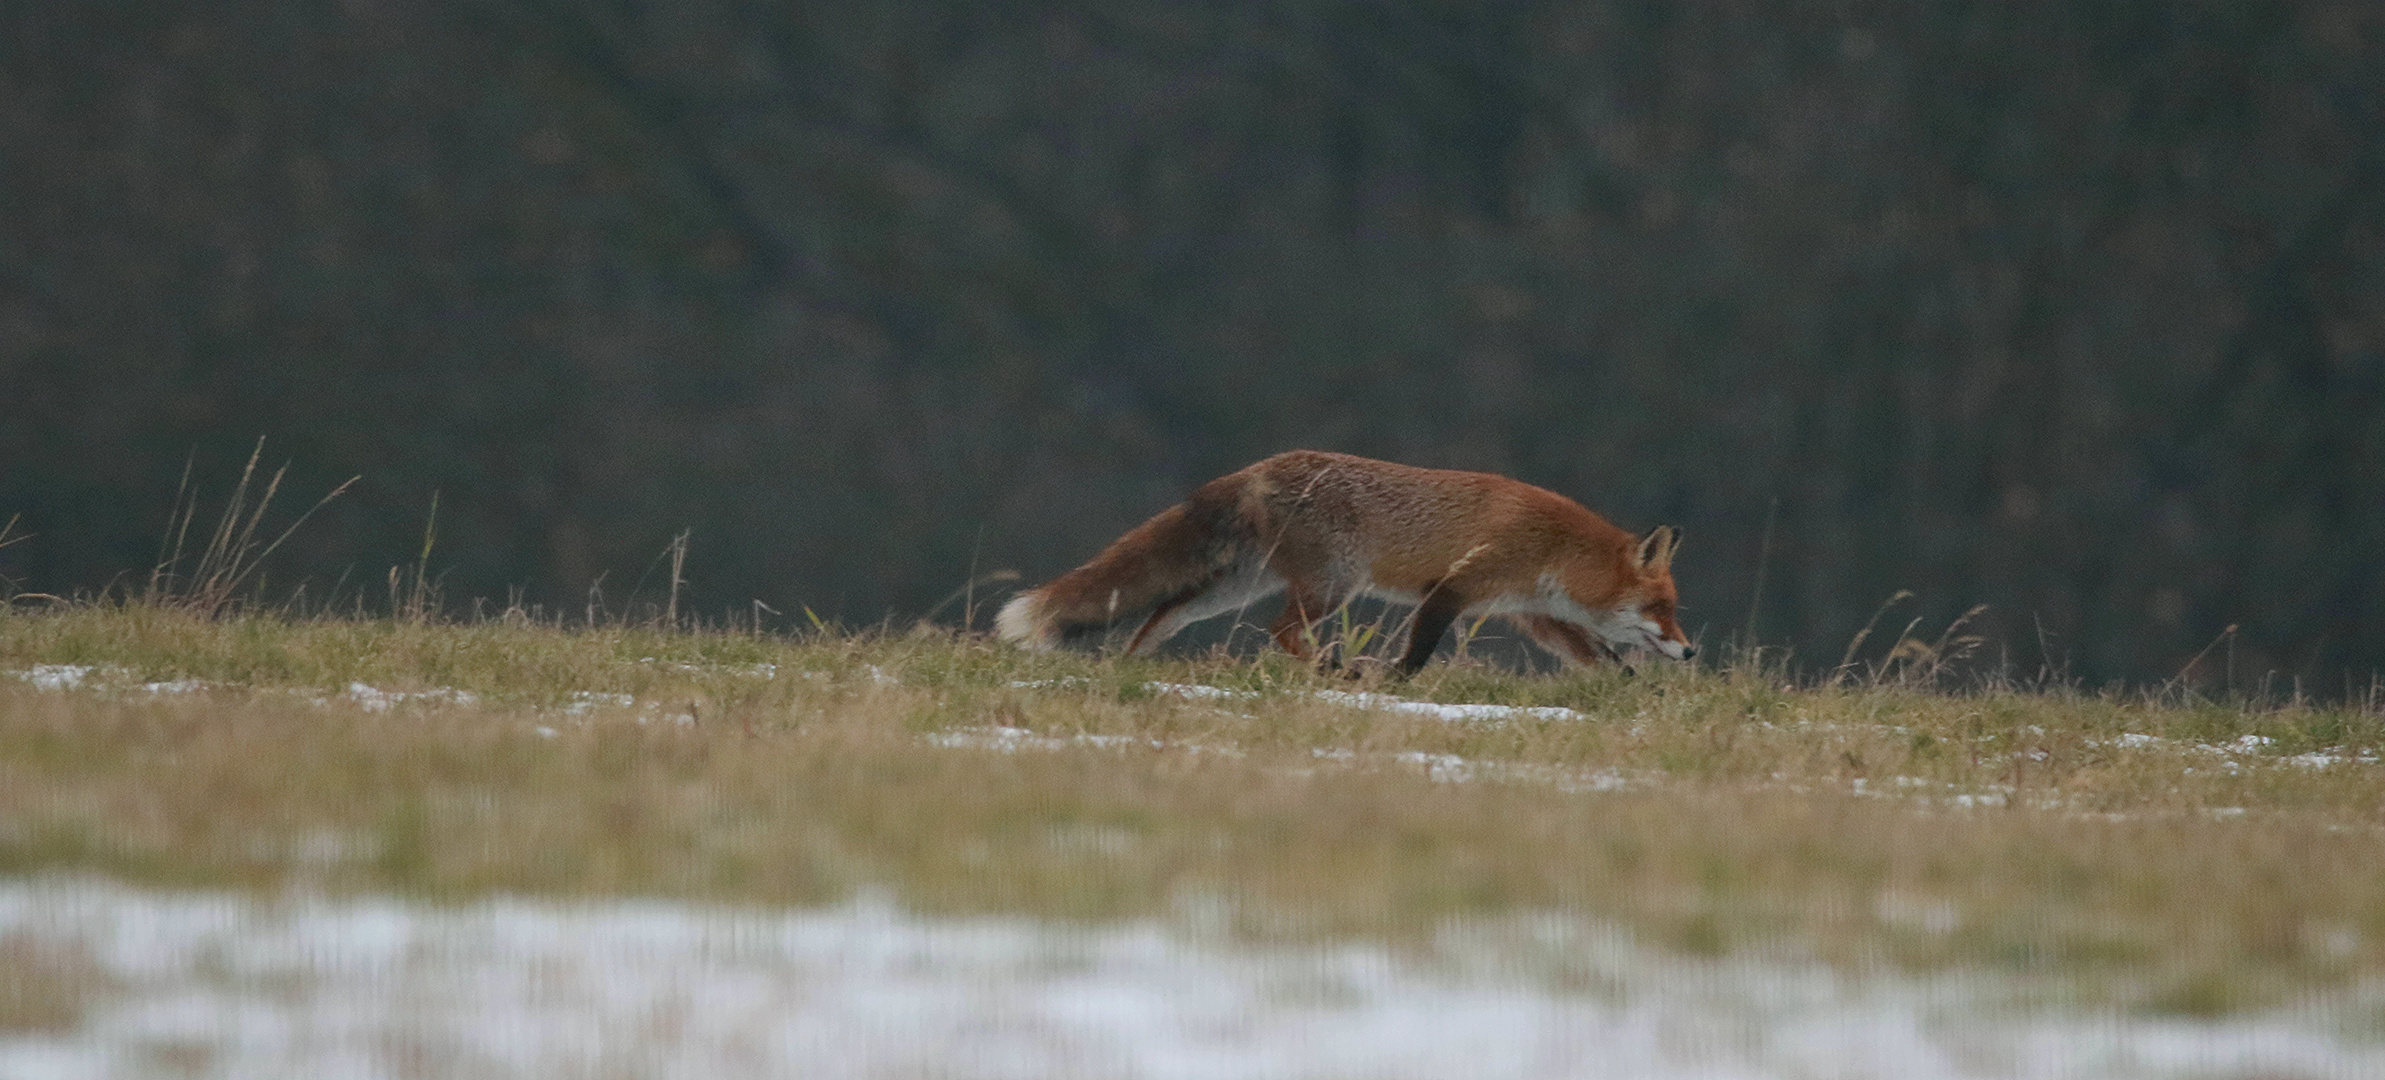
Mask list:
[[[0,577],[258,436],[365,477],[277,591],[436,491],[451,603],[875,622],[1321,446],[1686,527],[1708,641],[2366,687],[2385,5],[0,0]]]

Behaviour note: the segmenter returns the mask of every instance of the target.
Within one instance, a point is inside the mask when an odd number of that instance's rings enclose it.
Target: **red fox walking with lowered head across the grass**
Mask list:
[[[1686,660],[1672,553],[1555,491],[1488,472],[1419,470],[1288,451],[1212,479],[1119,536],[1092,563],[1002,606],[995,632],[1028,648],[1095,637],[1128,617],[1126,651],[1288,594],[1269,634],[1309,658],[1309,629],[1355,596],[1417,606],[1400,675],[1462,615],[1500,615],[1562,660],[1622,663],[1646,646]]]

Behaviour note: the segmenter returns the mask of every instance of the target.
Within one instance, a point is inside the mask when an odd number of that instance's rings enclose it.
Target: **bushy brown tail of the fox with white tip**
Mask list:
[[[1057,648],[1080,634],[1183,601],[1214,584],[1250,548],[1231,505],[1192,498],[1119,536],[1090,563],[1028,589],[995,615],[995,634]]]

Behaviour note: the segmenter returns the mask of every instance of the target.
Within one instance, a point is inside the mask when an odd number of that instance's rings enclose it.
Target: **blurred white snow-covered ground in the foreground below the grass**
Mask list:
[[[76,997],[0,1025],[0,1078],[2385,1075],[2385,1035],[2337,1028],[2375,1023],[2385,987],[2220,1023],[2080,1016],[1980,982],[1679,961],[1572,920],[1255,949],[1202,908],[1061,927],[0,880],[0,992]]]

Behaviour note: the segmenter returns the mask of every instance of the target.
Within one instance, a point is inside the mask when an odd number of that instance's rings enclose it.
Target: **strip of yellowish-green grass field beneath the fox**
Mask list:
[[[1286,939],[1569,913],[1689,954],[1991,970],[2194,1016],[2385,970],[2373,703],[1798,684],[1755,663],[1379,687],[1581,713],[1452,722],[1319,699],[1348,684],[1281,656],[0,610],[0,672],[88,668],[72,689],[0,675],[0,873],[432,899],[890,889],[935,913],[1221,911]],[[1152,687],[1190,682],[1243,694]]]

